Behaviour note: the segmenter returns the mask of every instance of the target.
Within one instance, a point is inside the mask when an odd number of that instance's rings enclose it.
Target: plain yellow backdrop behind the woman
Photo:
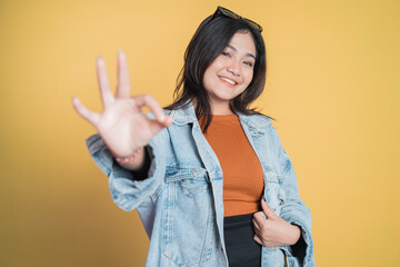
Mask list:
[[[90,158],[96,57],[116,86],[172,100],[184,49],[218,4],[263,26],[264,93],[311,208],[318,266],[400,266],[400,2],[0,1],[0,265],[143,266],[136,211]]]

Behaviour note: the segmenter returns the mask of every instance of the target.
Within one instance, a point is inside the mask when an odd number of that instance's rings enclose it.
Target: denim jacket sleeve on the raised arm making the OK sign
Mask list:
[[[132,171],[116,162],[98,134],[86,140],[94,162],[109,177],[111,197],[121,209],[129,211],[139,207],[163,186],[166,136],[167,129],[163,129],[146,147],[151,159],[146,179],[136,179]]]

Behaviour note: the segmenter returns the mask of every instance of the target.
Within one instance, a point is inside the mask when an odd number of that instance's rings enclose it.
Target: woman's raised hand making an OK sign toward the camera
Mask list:
[[[96,127],[106,146],[114,157],[131,157],[138,149],[164,127],[171,125],[158,101],[150,95],[130,97],[130,82],[126,55],[118,52],[118,87],[112,96],[106,62],[97,59],[97,73],[103,111],[97,113],[87,109],[78,98],[72,98],[77,112]],[[142,108],[148,107],[156,116],[154,120],[146,117]],[[140,157],[143,159],[143,152]],[[139,160],[140,161],[140,160]]]

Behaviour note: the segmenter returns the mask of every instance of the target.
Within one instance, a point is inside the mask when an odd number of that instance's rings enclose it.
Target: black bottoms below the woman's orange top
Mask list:
[[[260,267],[261,245],[254,241],[253,214],[223,218],[229,267]]]

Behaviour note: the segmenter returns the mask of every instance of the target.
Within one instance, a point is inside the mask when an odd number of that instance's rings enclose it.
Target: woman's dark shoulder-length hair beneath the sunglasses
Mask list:
[[[197,29],[184,52],[184,65],[177,79],[174,101],[166,109],[174,110],[189,105],[196,99],[196,116],[202,119],[201,128],[206,132],[212,120],[211,106],[203,86],[207,68],[221,55],[237,32],[250,32],[256,44],[253,78],[248,88],[230,100],[231,110],[244,115],[260,113],[249,106],[263,91],[266,83],[266,46],[260,31],[242,19],[218,16],[206,18]]]

